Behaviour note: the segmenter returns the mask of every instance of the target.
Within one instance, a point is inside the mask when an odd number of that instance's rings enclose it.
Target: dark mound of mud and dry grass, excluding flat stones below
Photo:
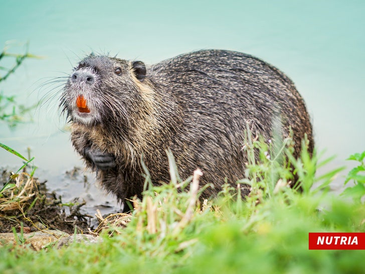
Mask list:
[[[74,199],[67,204],[55,192],[46,188],[26,171],[12,175],[2,170],[0,178],[0,232],[33,232],[40,229],[57,229],[66,233],[87,232],[94,216],[81,208],[85,201]]]

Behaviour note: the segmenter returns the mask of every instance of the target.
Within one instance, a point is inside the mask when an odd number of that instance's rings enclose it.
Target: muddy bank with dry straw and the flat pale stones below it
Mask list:
[[[69,179],[78,176],[79,169],[66,172]],[[0,171],[0,245],[26,244],[40,250],[75,240],[94,242],[110,225],[125,227],[130,221],[130,215],[124,213],[102,215],[97,209],[88,214],[85,200],[64,203],[46,183],[26,170],[17,175]]]

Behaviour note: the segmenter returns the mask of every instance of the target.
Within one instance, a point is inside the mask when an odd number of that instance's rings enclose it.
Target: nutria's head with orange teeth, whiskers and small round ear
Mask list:
[[[145,65],[140,61],[92,54],[70,75],[60,107],[72,122],[128,126],[130,115],[141,101],[138,85],[145,75]]]

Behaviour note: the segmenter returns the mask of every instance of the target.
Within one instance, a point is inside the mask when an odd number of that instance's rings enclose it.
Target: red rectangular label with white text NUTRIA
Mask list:
[[[309,232],[309,249],[365,249],[365,232]]]

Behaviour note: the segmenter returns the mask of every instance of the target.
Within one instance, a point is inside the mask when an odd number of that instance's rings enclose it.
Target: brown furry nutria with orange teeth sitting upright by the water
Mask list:
[[[283,136],[293,131],[294,156],[312,126],[293,82],[277,68],[247,54],[201,50],[154,65],[108,56],[83,59],[70,75],[60,107],[72,122],[71,140],[101,185],[120,201],[141,196],[141,157],[153,184],[168,182],[166,150],[181,178],[196,168],[203,197],[225,179],[244,175],[241,148],[246,122],[265,140],[280,117]],[[245,193],[247,194],[247,192]]]

